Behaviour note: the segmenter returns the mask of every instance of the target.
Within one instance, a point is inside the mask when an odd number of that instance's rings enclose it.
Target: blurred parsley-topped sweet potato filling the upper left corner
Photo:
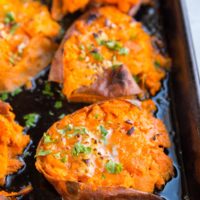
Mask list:
[[[47,67],[59,31],[39,2],[0,1],[0,92],[15,90]]]

